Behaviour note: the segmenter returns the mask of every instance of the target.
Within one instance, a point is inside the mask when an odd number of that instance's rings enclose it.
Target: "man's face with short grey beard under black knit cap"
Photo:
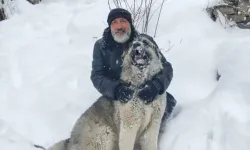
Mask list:
[[[131,34],[131,26],[127,19],[116,18],[111,22],[111,34],[118,43],[128,41]]]

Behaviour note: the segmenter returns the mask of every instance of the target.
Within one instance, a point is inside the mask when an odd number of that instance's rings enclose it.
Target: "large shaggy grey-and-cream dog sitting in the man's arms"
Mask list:
[[[157,150],[165,92],[145,104],[137,93],[145,81],[161,72],[158,47],[147,35],[139,35],[123,55],[121,81],[135,92],[127,103],[100,97],[77,120],[71,137],[49,150]],[[137,149],[137,148],[135,148]]]

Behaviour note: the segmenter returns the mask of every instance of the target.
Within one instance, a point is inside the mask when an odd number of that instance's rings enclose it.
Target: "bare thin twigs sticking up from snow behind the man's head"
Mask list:
[[[153,22],[155,24],[154,37],[156,36],[162,8],[166,0],[132,0],[130,3],[128,0],[108,0],[110,9],[112,9],[111,1],[116,8],[125,8],[131,12],[134,26],[142,33],[148,32],[149,23],[158,12],[157,20]]]

